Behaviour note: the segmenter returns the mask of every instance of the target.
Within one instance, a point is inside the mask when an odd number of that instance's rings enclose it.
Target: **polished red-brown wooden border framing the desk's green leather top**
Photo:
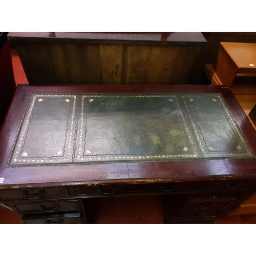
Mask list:
[[[30,93],[221,93],[233,118],[256,152],[256,131],[229,88],[214,86],[28,86],[19,85],[0,137],[1,188],[31,186],[162,183],[246,179],[256,175],[256,159],[6,167]]]

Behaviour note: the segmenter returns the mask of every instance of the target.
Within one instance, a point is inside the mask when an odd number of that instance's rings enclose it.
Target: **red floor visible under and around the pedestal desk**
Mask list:
[[[22,63],[12,48],[15,82],[28,83]],[[158,196],[107,198],[100,202],[94,223],[163,223],[163,209]],[[23,223],[12,210],[0,205],[0,223]],[[256,223],[256,215],[225,214],[214,223]]]

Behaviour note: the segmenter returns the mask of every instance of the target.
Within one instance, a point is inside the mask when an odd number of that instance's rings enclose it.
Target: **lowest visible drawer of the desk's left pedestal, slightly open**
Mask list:
[[[44,213],[44,214],[24,214],[22,220],[28,224],[71,224],[82,223],[80,211]]]

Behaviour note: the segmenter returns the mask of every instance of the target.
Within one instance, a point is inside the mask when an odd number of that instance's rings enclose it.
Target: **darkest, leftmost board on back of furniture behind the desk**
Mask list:
[[[18,55],[30,84],[57,83],[47,42],[15,42]]]

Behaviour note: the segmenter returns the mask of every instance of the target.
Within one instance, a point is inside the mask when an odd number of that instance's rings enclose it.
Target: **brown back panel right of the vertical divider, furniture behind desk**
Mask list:
[[[123,84],[187,83],[200,47],[126,46]]]

